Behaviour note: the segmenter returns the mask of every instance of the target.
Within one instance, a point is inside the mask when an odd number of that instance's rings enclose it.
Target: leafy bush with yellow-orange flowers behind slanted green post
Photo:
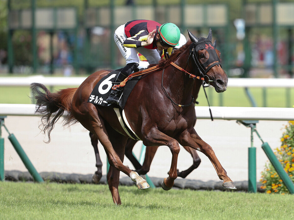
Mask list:
[[[281,147],[274,150],[274,154],[284,167],[284,170],[294,182],[294,121],[289,121],[286,125],[286,131],[281,137]],[[274,166],[269,162],[265,165],[265,169],[261,172],[261,188],[266,193],[289,193],[286,185],[277,174]]]

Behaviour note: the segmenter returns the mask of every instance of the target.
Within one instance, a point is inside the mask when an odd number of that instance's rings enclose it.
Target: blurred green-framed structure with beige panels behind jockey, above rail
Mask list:
[[[114,30],[133,19],[207,36],[229,77],[292,78],[293,0],[2,0],[0,74],[90,74],[125,65]]]

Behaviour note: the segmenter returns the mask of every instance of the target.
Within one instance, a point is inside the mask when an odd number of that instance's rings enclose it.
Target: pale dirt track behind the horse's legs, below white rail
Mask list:
[[[90,142],[88,131],[80,124],[63,128],[57,123],[51,133],[51,142],[43,142],[44,135],[38,128],[39,117],[8,116],[5,125],[20,142],[25,153],[38,172],[54,171],[59,173],[93,174],[96,170],[94,150]],[[280,137],[286,121],[260,121],[257,131],[272,149],[280,146]],[[250,147],[250,128],[238,125],[236,121],[198,120],[195,130],[200,137],[209,143],[215,151],[220,163],[226,169],[233,181],[248,180],[248,147]],[[27,171],[20,157],[8,140],[8,133],[3,128],[4,140],[4,169]],[[142,142],[138,142],[134,153],[139,158]],[[257,181],[260,172],[267,162],[265,153],[261,149],[261,141],[254,134],[254,146],[257,148]],[[106,174],[106,154],[99,144],[102,159],[103,174]],[[199,153],[201,164],[187,178],[195,180],[219,180],[209,159]],[[150,177],[167,177],[171,163],[169,149],[162,146],[158,149],[151,164]],[[124,161],[131,169],[133,166],[127,158]],[[184,148],[178,157],[178,169],[187,169],[192,164],[192,158]],[[121,177],[126,176],[121,173]]]

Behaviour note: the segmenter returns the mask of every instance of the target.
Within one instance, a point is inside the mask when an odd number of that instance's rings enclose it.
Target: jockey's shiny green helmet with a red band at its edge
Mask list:
[[[175,47],[179,45],[181,33],[177,25],[169,22],[162,24],[158,29],[158,33],[168,46]]]

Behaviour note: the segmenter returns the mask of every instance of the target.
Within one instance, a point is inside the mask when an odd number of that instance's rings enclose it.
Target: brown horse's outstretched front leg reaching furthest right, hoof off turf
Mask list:
[[[185,131],[179,139],[180,143],[184,146],[189,146],[198,151],[204,153],[211,161],[214,169],[216,170],[220,180],[223,180],[223,187],[228,189],[236,189],[233,181],[227,175],[226,170],[218,161],[212,147],[204,142],[201,137],[196,133],[194,128],[191,128],[189,131]]]

